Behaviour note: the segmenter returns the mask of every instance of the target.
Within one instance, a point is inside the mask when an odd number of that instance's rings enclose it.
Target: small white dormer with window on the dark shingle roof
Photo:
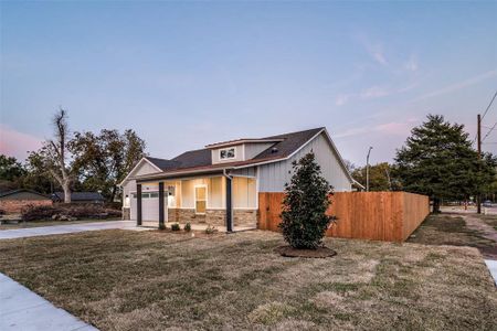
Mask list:
[[[253,159],[283,139],[237,139],[205,146],[211,150],[212,164]]]

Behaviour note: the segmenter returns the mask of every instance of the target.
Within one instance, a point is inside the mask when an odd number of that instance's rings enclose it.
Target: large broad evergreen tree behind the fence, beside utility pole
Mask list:
[[[395,175],[404,191],[429,195],[433,211],[440,212],[442,199],[463,200],[480,192],[494,172],[493,159],[478,160],[463,125],[429,115],[396,151]]]

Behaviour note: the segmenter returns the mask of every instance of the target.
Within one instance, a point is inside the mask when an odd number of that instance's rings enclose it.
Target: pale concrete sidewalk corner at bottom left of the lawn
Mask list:
[[[98,330],[0,274],[0,330]]]

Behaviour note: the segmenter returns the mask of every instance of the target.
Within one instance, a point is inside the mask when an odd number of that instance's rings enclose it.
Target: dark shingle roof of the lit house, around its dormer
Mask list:
[[[147,157],[147,160],[152,162],[162,171],[171,172],[191,168],[219,168],[226,166],[242,166],[242,164],[257,163],[265,160],[283,159],[292,154],[294,151],[296,151],[304,143],[309,141],[310,138],[316,136],[322,129],[324,128],[316,128],[305,131],[289,132],[278,136],[261,138],[261,139],[276,139],[276,140],[283,139],[283,141],[275,142],[273,146],[271,146],[256,157],[245,161],[212,164],[211,149],[209,148],[187,151],[171,160],[149,158],[149,157]]]

